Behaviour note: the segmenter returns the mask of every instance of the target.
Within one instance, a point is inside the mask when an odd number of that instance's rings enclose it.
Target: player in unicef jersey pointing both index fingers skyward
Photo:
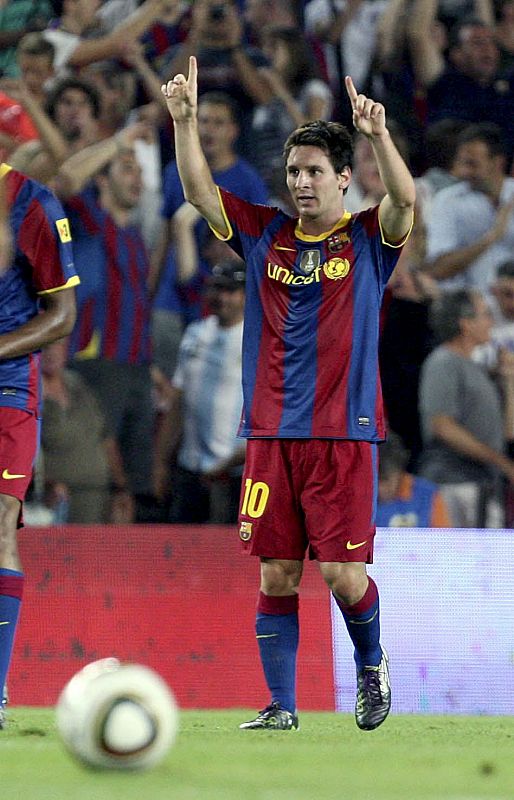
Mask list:
[[[293,131],[285,144],[298,216],[242,201],[212,180],[198,139],[196,81],[191,58],[187,79],[179,74],[162,87],[184,194],[247,264],[240,537],[261,561],[256,633],[271,703],[240,727],[298,727],[298,589],[308,549],[355,648],[357,725],[372,730],[391,703],[378,591],[366,574],[376,443],[384,438],[378,318],[412,226],[414,182],[384,107],[347,77],[353,124],[369,138],[387,190],[380,206],[345,212],[352,139],[322,121]]]

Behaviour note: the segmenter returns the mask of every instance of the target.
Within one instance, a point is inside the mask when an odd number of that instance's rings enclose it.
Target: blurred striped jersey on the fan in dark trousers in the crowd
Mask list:
[[[139,229],[117,225],[98,204],[93,188],[71,198],[66,209],[81,280],[70,355],[119,364],[148,363],[149,259]]]

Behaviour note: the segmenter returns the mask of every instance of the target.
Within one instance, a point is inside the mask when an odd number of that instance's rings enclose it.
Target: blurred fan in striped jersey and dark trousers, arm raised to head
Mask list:
[[[71,363],[95,393],[108,436],[121,454],[113,491],[127,496],[127,514],[119,522],[140,519],[140,508],[152,494],[155,424],[149,256],[132,223],[141,168],[128,128],[125,137],[76,154],[61,171],[77,270],[84,276],[77,295],[79,320],[70,337]]]

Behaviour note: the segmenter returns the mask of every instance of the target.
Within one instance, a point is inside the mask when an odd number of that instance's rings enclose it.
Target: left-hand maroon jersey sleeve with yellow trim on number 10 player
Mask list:
[[[246,259],[259,241],[263,231],[281,212],[270,206],[249,203],[220,187],[218,187],[218,193],[229,233],[228,236],[223,236],[214,228],[212,231],[218,239],[230,244],[238,255]]]

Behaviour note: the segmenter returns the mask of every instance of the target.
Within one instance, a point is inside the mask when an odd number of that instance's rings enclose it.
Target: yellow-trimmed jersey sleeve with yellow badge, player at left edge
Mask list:
[[[20,226],[17,246],[32,271],[40,295],[76,286],[71,232],[64,209],[55,195],[41,187]]]

